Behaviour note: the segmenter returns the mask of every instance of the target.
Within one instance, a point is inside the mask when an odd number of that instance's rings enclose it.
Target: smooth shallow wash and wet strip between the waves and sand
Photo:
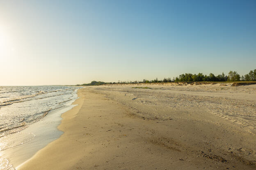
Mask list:
[[[15,168],[21,165],[21,163],[30,159],[37,151],[63,134],[62,131],[57,129],[57,126],[61,123],[61,115],[74,107],[72,103],[77,97],[76,90],[73,95],[73,99],[71,98],[62,107],[51,110],[43,119],[31,123],[24,130],[1,138],[2,145],[5,146],[5,143],[10,143],[10,146],[0,151],[1,163],[4,163],[0,169],[11,166]]]

